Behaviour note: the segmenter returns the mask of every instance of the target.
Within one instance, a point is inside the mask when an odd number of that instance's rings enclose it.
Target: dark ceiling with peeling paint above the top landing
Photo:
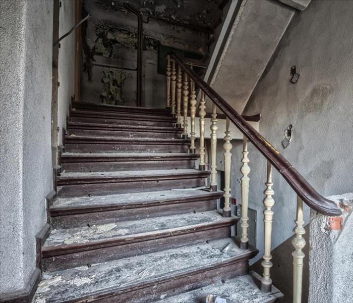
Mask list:
[[[87,0],[86,0],[87,1]],[[212,31],[222,18],[219,8],[223,0],[93,0],[105,11],[122,11],[124,2],[138,9],[144,19],[161,20],[167,23],[194,29]]]

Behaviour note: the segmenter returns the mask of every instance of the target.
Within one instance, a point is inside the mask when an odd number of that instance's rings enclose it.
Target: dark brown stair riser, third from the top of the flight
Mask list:
[[[69,135],[93,137],[118,137],[118,138],[181,138],[182,133],[174,132],[148,132],[148,131],[115,131],[95,129],[69,129]]]

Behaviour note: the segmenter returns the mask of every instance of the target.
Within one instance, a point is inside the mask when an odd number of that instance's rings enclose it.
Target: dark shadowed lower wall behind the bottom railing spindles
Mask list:
[[[305,254],[304,267],[303,267],[303,290],[302,302],[307,303],[309,297],[309,238],[310,238],[309,224],[305,227],[304,238],[307,241],[303,251]],[[294,235],[284,241],[271,251],[273,267],[271,268],[272,284],[276,286],[283,294],[284,297],[279,299],[279,303],[291,303],[293,297],[293,264],[292,256],[294,248],[291,240]],[[253,264],[250,270],[254,270],[259,275],[262,275],[263,267],[261,266],[262,259]]]

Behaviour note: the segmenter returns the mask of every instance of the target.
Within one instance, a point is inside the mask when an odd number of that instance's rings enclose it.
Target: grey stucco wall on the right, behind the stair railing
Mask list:
[[[353,188],[353,2],[314,1],[293,17],[243,114],[261,113],[260,133],[324,196]],[[290,83],[290,67],[300,78]],[[293,139],[284,149],[284,129]],[[241,201],[242,143],[233,141],[231,192]],[[221,143],[222,144],[222,143]],[[224,153],[223,150],[220,151]],[[257,210],[258,260],[263,255],[263,191],[266,161],[252,146],[249,207]],[[292,235],[296,194],[273,173],[275,248]],[[309,208],[305,206],[305,221]],[[290,260],[288,252],[288,260]],[[273,260],[276,266],[276,260]]]

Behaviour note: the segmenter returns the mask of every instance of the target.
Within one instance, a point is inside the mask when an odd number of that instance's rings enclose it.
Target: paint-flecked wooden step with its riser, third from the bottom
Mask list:
[[[238,218],[217,211],[52,230],[42,247],[46,269],[63,269],[230,236]],[[54,258],[53,258],[54,257]]]

